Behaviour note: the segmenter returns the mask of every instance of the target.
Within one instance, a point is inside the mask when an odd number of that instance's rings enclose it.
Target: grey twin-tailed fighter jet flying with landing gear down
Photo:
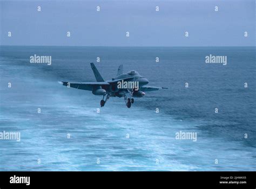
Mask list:
[[[100,101],[100,107],[104,107],[106,101],[109,100],[110,97],[117,96],[124,97],[126,106],[131,108],[131,104],[134,103],[133,97],[143,97],[146,94],[145,92],[167,89],[164,87],[146,86],[147,83],[149,83],[149,80],[134,70],[123,73],[123,65],[118,67],[116,78],[112,78],[110,81],[104,81],[93,63],[91,63],[91,68],[97,82],[62,81],[61,83],[63,86],[90,90],[94,95],[103,96],[103,99]]]

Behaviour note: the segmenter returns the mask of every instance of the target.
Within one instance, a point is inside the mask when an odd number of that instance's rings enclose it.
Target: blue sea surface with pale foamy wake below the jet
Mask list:
[[[169,89],[100,108],[102,96],[58,82],[96,81],[90,62],[105,80],[123,64]],[[21,141],[0,140],[0,171],[256,171],[255,70],[255,47],[1,46],[0,132]]]

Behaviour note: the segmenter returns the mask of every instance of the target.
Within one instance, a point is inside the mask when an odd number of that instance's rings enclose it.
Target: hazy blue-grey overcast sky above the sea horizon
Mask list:
[[[41,12],[37,6],[41,6]],[[214,11],[215,6],[218,12]],[[1,45],[253,46],[255,43],[254,0],[1,1],[0,20]],[[66,37],[68,31],[71,37]],[[126,31],[130,37],[126,37]],[[244,37],[245,31],[248,37]]]

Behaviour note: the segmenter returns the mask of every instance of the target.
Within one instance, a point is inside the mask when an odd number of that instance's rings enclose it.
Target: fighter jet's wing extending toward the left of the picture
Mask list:
[[[60,83],[62,83],[62,85],[64,85],[64,86],[69,86],[72,88],[82,89],[82,90],[93,90],[94,88],[97,88],[100,86],[105,88],[110,85],[108,82],[65,82],[65,81],[62,81]]]

